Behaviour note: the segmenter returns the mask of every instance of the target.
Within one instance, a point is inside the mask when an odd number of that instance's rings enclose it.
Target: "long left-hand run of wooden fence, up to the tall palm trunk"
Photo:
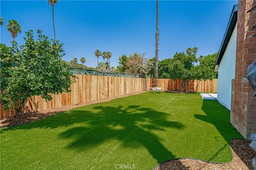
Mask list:
[[[45,109],[77,105],[110,97],[132,94],[148,90],[150,79],[105,77],[99,75],[76,74],[76,82],[71,84],[71,92],[52,95],[51,101],[44,101],[39,96],[30,97],[22,112],[40,112]],[[1,117],[14,115],[14,109],[3,111]]]

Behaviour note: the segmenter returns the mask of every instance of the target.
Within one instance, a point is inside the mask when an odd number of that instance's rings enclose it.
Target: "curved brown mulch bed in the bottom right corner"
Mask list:
[[[234,139],[230,142],[231,150],[233,151],[233,161],[230,163],[209,163],[198,159],[181,158],[169,160],[158,165],[155,170],[219,170],[219,169],[252,169],[252,158],[256,157],[256,152],[249,147],[250,141]]]

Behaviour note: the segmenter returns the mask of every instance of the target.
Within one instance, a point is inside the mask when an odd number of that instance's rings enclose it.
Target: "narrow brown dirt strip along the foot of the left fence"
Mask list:
[[[106,98],[106,99],[101,99],[101,100],[89,101],[89,102],[78,104],[78,105],[70,105],[70,106],[63,106],[63,107],[58,107],[58,108],[51,108],[51,109],[46,109],[45,111],[42,111],[42,112],[25,113],[25,114],[21,114],[19,118],[16,118],[14,116],[1,118],[0,119],[0,127],[6,127],[6,126],[10,127],[10,126],[15,126],[15,125],[26,124],[26,123],[34,122],[34,121],[40,120],[42,118],[60,113],[60,112],[68,111],[68,110],[76,108],[76,107],[82,107],[82,106],[102,103],[102,102],[110,101],[113,99],[123,98],[123,97],[127,97],[127,96],[132,96],[132,95],[139,95],[139,94],[142,94],[143,92],[147,92],[147,91],[141,91],[141,92],[136,92],[136,93],[129,94],[129,95],[111,97],[111,98]]]

